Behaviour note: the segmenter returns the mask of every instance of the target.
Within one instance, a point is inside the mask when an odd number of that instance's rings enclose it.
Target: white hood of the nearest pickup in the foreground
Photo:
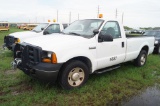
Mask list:
[[[75,48],[79,46],[90,45],[93,40],[75,35],[51,34],[48,36],[40,36],[24,40],[34,46],[39,46],[42,50],[58,51],[63,49]]]

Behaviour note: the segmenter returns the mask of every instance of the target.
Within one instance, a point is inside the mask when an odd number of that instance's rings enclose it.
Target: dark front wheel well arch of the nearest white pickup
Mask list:
[[[74,58],[68,60],[66,63],[68,63],[68,62],[70,62],[70,61],[72,61],[72,60],[78,60],[78,61],[83,62],[83,63],[86,64],[86,66],[88,67],[89,72],[90,72],[90,73],[92,72],[92,63],[91,63],[90,59],[88,59],[87,57],[83,57],[83,56],[74,57]],[[65,64],[66,64],[66,63],[65,63]],[[65,64],[63,64],[63,66],[64,66]],[[63,67],[63,66],[62,66],[62,67]]]

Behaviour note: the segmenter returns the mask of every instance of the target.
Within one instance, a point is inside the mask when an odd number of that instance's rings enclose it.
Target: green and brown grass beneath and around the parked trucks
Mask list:
[[[21,31],[12,28],[0,32],[0,46],[3,37]],[[100,75],[90,75],[87,83],[71,91],[59,85],[44,84],[25,75],[21,70],[13,71],[10,62],[13,53],[0,47],[0,105],[2,106],[102,106],[117,105],[136,95],[141,90],[160,83],[160,57],[150,55],[144,67],[135,67],[132,62],[121,68]]]

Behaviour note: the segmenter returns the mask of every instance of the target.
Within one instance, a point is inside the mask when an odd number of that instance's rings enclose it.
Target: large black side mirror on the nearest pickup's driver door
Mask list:
[[[98,42],[112,42],[113,37],[111,35],[102,35],[99,34],[98,36]]]

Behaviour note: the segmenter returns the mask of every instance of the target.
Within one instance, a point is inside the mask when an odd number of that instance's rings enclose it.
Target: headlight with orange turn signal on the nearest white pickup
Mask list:
[[[57,63],[56,54],[54,52],[43,51],[42,62],[56,64]]]

